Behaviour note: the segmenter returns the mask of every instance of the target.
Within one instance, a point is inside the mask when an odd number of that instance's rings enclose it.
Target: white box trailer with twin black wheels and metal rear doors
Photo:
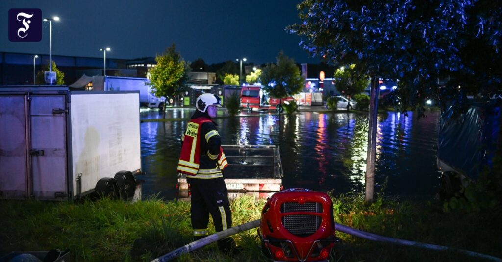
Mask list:
[[[66,200],[94,189],[134,194],[138,91],[0,87],[0,134],[2,199]]]

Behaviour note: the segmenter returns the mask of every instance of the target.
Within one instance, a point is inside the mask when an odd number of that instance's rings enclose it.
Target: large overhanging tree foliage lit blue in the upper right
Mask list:
[[[360,74],[399,79],[402,110],[430,97],[461,106],[468,94],[502,93],[496,1],[306,0],[298,10],[301,23],[288,29],[305,50],[356,63]]]

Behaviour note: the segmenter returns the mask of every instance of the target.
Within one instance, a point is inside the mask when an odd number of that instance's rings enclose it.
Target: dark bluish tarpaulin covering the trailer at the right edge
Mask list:
[[[484,167],[491,168],[499,139],[500,107],[471,102],[458,118],[452,115],[451,107],[441,115],[438,158],[458,173],[476,179]]]

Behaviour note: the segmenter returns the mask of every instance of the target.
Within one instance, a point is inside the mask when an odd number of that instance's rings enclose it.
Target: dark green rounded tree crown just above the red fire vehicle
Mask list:
[[[305,86],[300,69],[292,58],[279,53],[277,64],[267,64],[260,76],[260,82],[271,96],[285,98],[299,93]]]

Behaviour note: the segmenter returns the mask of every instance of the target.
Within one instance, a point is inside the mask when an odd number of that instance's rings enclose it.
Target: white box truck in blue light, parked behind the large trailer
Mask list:
[[[105,76],[104,77],[104,90],[105,91],[140,91],[140,105],[148,106],[150,108],[164,109],[166,105],[165,97],[157,97],[152,93],[152,87],[147,83],[147,78],[137,77],[117,77]]]

